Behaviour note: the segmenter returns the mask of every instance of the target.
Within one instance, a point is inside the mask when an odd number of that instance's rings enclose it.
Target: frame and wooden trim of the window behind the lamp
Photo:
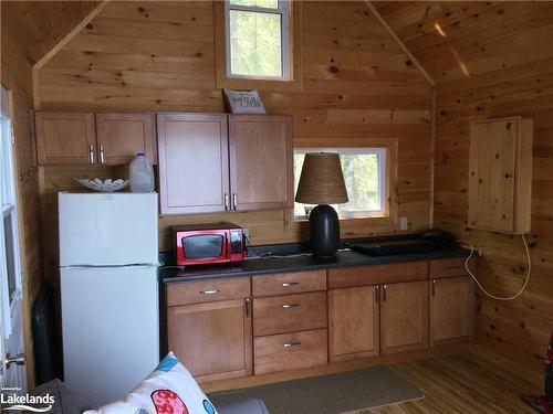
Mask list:
[[[392,149],[387,146],[371,146],[371,147],[333,147],[333,148],[294,148],[296,153],[306,152],[337,152],[342,155],[377,155],[378,156],[378,188],[380,197],[379,210],[365,210],[353,212],[338,212],[340,220],[351,219],[375,219],[390,216],[390,183],[392,183]],[[295,168],[295,166],[294,166]],[[294,178],[295,183],[295,178]],[[295,189],[294,189],[295,194]],[[305,214],[295,214],[295,208],[292,212],[294,221],[305,221]]]

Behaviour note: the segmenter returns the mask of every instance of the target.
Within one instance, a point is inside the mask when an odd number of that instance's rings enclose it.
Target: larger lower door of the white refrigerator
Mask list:
[[[116,400],[159,362],[155,267],[62,268],[64,375],[93,406]]]

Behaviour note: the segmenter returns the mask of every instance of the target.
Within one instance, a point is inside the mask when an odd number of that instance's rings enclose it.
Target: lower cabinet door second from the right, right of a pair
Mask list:
[[[383,285],[380,288],[380,352],[428,347],[428,282]]]

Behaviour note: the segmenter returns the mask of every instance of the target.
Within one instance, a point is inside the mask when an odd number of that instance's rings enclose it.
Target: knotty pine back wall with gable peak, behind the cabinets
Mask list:
[[[364,2],[309,1],[300,9],[301,89],[269,91],[260,83],[269,113],[293,115],[295,147],[396,141],[398,216],[407,216],[413,230],[427,227],[430,87]],[[40,106],[222,112],[213,21],[207,1],[109,3],[40,70]],[[55,229],[55,191],[73,187],[80,173],[44,168],[48,233]],[[290,211],[176,216],[160,220],[161,248],[170,248],[170,224],[220,220],[249,227],[257,244],[303,237]],[[396,230],[382,220],[343,225],[345,236]]]

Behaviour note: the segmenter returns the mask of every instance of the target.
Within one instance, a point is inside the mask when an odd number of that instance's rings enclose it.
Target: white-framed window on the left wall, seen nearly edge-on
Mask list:
[[[0,112],[0,315],[4,336],[11,332],[12,310],[21,300],[21,275],[19,266],[18,216],[15,209],[15,177],[13,176],[13,142],[8,110],[8,92],[1,88]]]

